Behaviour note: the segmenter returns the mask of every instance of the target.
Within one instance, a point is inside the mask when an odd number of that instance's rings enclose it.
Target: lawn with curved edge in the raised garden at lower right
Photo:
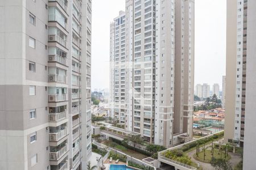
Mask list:
[[[225,151],[222,151],[222,155],[221,155],[221,152],[218,149],[214,149],[213,156],[215,159],[220,159],[220,158],[224,159]],[[196,160],[199,160],[200,162],[209,163],[210,160],[212,159],[212,152],[211,150],[205,151],[205,160],[204,160],[204,151],[201,151],[199,153],[198,158],[196,157],[196,154],[194,154],[193,158],[195,158]],[[229,160],[230,158],[231,158],[230,156],[226,156],[226,160]]]

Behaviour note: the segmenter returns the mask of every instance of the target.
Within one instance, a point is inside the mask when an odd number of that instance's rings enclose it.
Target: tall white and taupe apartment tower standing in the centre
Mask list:
[[[188,140],[193,70],[194,1],[127,0],[110,24],[110,115],[150,143]]]

